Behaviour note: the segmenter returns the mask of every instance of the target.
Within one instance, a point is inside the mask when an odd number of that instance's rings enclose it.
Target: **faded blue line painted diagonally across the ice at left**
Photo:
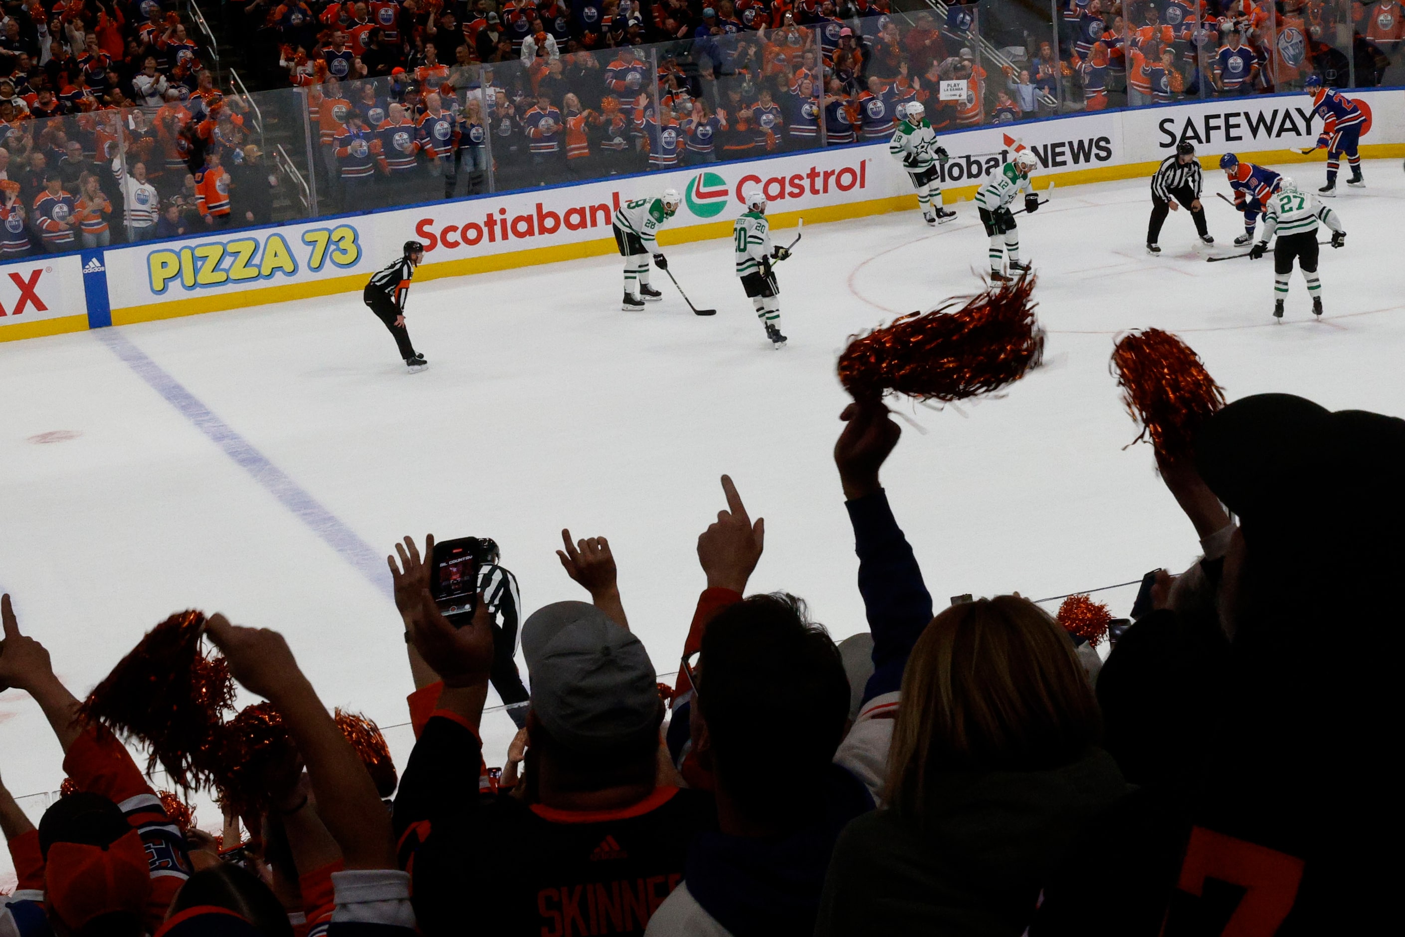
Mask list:
[[[395,591],[391,584],[389,572],[385,568],[385,558],[371,549],[371,545],[361,539],[355,531],[343,524],[318,499],[288,478],[287,472],[268,461],[267,455],[254,448],[249,440],[239,435],[232,426],[221,420],[209,407],[201,403],[200,398],[187,391],[180,381],[169,375],[162,365],[152,361],[145,351],[132,344],[121,330],[97,329],[93,334],[98,341],[111,348],[126,367],[135,371],[142,381],[146,381],[156,393],[162,395],[167,403],[176,407],[181,416],[194,423],[195,428],[208,435],[209,441],[218,445],[225,455],[249,472],[270,494],[278,499],[280,504],[292,511],[327,546],[337,551],[372,586],[393,601]]]

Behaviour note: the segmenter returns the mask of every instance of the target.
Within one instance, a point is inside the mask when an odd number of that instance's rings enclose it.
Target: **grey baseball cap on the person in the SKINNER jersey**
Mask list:
[[[531,711],[568,749],[614,747],[658,732],[662,702],[643,643],[583,601],[558,601],[523,625]]]

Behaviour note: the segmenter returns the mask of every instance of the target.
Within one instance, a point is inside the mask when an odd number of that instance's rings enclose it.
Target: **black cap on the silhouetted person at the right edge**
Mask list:
[[[1291,393],[1260,393],[1215,413],[1196,438],[1196,465],[1249,527],[1301,541],[1325,531],[1381,537],[1405,523],[1405,420],[1328,410]]]

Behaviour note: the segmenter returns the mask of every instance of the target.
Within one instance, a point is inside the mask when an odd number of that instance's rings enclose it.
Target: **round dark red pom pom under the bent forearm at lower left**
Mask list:
[[[256,818],[268,808],[273,787],[296,781],[298,750],[271,702],[256,702],[239,711],[219,733],[219,763],[215,787],[219,804],[239,816]]]

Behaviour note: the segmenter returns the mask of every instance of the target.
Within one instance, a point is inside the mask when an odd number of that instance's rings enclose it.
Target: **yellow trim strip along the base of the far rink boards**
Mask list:
[[[1370,143],[1360,148],[1363,159],[1390,159],[1405,156],[1405,143]],[[1304,156],[1298,150],[1256,150],[1242,153],[1241,157],[1253,163],[1311,163],[1324,159],[1316,153]],[[1107,183],[1121,178],[1137,178],[1149,176],[1161,164],[1159,160],[1151,163],[1124,163],[1121,166],[1094,166],[1090,169],[1075,169],[1066,173],[1035,173],[1037,185],[1057,181],[1059,185],[1086,185],[1089,183]],[[1218,156],[1201,157],[1200,164],[1207,170],[1220,169]],[[961,185],[943,190],[944,198],[950,202],[965,201],[975,197],[979,185]],[[776,228],[787,228],[798,218],[804,216],[811,223],[832,221],[846,221],[850,218],[864,218],[868,215],[882,215],[887,212],[901,212],[916,208],[917,195],[894,195],[889,198],[875,198],[865,202],[846,202],[843,205],[822,205],[794,212],[776,212],[770,215]],[[694,240],[708,240],[711,237],[726,236],[732,230],[731,221],[710,222],[707,225],[691,225],[688,228],[665,229],[659,233],[659,243],[663,246],[683,244]],[[486,254],[483,257],[464,257],[461,260],[444,260],[420,267],[416,277],[419,280],[438,280],[441,277],[471,277],[496,270],[513,270],[517,267],[535,267],[538,264],[555,264],[565,260],[580,260],[582,257],[600,257],[615,251],[613,237],[599,240],[583,240],[572,244],[555,244],[552,247],[531,247],[528,250],[514,250],[502,254]],[[221,292],[204,296],[191,296],[178,302],[156,302],[145,306],[128,306],[112,310],[112,325],[126,326],[138,322],[153,322],[157,319],[176,319],[178,316],[195,316],[205,312],[221,312],[223,309],[240,309],[244,306],[263,306],[273,302],[292,302],[296,299],[312,299],[315,296],[330,296],[341,292],[354,292],[365,287],[367,274],[350,274],[346,277],[325,277],[308,280],[305,282],[284,284],[280,287],[263,287],[259,289],[243,289],[235,292]],[[77,316],[83,319],[81,316]],[[34,326],[45,323],[32,323]],[[15,326],[11,326],[15,327]],[[87,327],[87,320],[83,326]],[[74,329],[62,329],[73,332]],[[4,329],[0,329],[3,334]],[[37,332],[32,334],[53,334],[52,332]],[[27,339],[30,334],[13,336]]]

